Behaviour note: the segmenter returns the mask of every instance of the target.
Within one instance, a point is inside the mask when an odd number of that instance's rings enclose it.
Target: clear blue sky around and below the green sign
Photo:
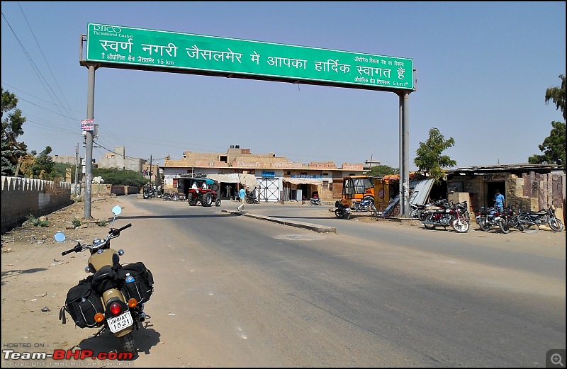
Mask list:
[[[88,23],[320,47],[413,60],[410,169],[437,127],[457,166],[521,164],[561,110],[545,91],[566,74],[565,2],[2,1],[2,88],[15,93],[29,150],[84,157]],[[96,70],[101,147],[154,162],[232,144],[291,161],[398,167],[392,92],[128,69]]]

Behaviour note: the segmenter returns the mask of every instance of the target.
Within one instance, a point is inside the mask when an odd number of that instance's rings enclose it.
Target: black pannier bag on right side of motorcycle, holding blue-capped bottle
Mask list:
[[[134,282],[126,283],[126,274],[134,277]],[[118,270],[118,277],[122,281],[122,293],[126,300],[135,298],[138,304],[150,300],[154,291],[154,277],[142,261],[123,265]]]

